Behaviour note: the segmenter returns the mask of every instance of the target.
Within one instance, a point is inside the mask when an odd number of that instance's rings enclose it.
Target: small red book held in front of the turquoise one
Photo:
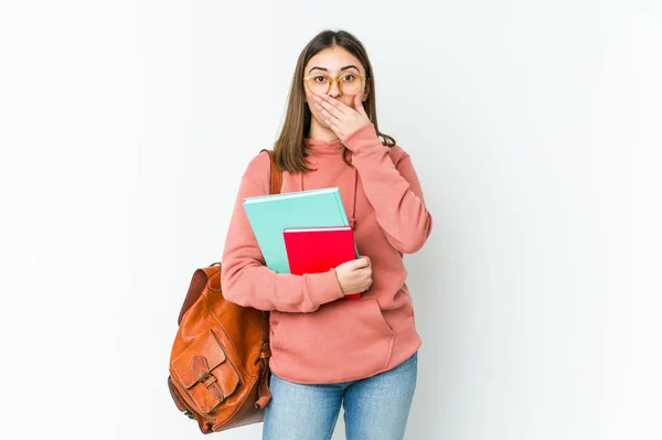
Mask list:
[[[282,238],[293,275],[327,272],[356,259],[351,226],[288,228],[282,232]],[[361,293],[345,294],[344,298],[357,299]]]

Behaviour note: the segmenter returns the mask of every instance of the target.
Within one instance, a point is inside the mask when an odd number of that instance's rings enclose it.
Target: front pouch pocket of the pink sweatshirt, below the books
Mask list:
[[[313,313],[278,313],[275,373],[302,383],[345,382],[383,371],[395,339],[374,297]]]

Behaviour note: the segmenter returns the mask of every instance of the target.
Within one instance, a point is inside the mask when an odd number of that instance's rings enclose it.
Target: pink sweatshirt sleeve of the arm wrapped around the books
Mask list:
[[[303,276],[276,273],[265,266],[244,211],[244,197],[269,193],[268,170],[268,155],[258,154],[242,178],[223,249],[223,294],[231,302],[258,310],[313,312],[343,297],[335,269]]]

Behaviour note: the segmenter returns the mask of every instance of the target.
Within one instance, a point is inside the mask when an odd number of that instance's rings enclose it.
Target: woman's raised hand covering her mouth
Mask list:
[[[313,99],[321,117],[341,142],[344,142],[354,131],[371,124],[361,103],[361,94],[354,95],[354,108],[327,94],[314,96]]]

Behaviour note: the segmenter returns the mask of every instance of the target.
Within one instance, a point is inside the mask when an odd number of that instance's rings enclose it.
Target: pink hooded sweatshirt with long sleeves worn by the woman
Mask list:
[[[418,250],[431,229],[420,183],[409,155],[384,147],[373,125],[344,141],[307,140],[317,171],[282,174],[282,192],[338,186],[348,217],[355,221],[361,255],[371,258],[373,283],[361,299],[342,299],[335,270],[296,276],[264,265],[244,212],[244,197],[269,193],[269,158],[261,153],[242,179],[223,251],[227,300],[270,313],[271,371],[303,384],[360,379],[391,369],[420,346],[404,253]]]

